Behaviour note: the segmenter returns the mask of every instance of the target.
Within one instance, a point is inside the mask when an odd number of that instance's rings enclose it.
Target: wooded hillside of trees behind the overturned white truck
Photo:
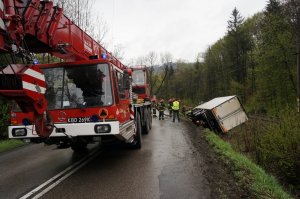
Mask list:
[[[248,111],[267,115],[278,115],[283,107],[296,109],[300,28],[285,12],[285,5],[270,1],[265,12],[246,20],[235,8],[227,34],[199,55],[196,63],[179,61],[165,66],[167,75],[163,72],[156,77],[166,75],[164,84],[158,92],[154,86],[154,93],[163,98],[176,96],[193,105],[238,95]]]

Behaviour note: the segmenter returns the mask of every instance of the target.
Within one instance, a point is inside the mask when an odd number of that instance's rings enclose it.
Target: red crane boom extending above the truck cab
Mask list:
[[[24,45],[30,52],[51,53],[66,61],[106,57],[117,67],[123,64],[63,14],[52,1],[0,1],[0,51]],[[27,50],[27,49],[26,49]]]

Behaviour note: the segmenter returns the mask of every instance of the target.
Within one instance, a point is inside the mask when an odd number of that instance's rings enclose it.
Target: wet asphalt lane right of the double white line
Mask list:
[[[210,198],[187,125],[154,119],[141,150],[107,149],[43,198]]]

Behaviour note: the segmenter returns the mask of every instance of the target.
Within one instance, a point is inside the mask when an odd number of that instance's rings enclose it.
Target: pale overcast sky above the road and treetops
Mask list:
[[[121,44],[124,63],[169,52],[173,61],[194,62],[222,38],[234,7],[245,18],[262,11],[266,0],[95,0],[109,32],[108,49]]]

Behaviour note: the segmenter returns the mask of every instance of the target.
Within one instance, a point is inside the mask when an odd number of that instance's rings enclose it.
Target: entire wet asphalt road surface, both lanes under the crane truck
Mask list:
[[[155,118],[142,149],[105,148],[42,198],[211,198],[192,125]],[[79,158],[43,145],[0,154],[0,198],[22,196]]]

